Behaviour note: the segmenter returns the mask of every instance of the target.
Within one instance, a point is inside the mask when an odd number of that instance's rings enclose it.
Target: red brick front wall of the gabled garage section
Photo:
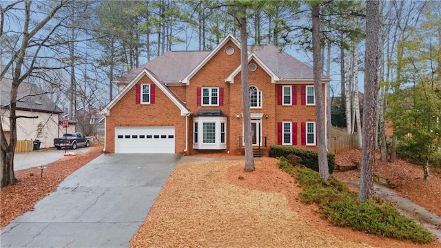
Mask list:
[[[147,76],[137,83],[153,83]],[[105,119],[105,151],[115,152],[115,127],[175,127],[175,152],[185,149],[185,116],[158,86],[154,104],[135,104],[136,87],[132,87],[110,110]]]

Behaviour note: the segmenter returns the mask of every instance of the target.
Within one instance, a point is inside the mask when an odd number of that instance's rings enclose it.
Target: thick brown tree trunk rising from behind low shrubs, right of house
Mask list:
[[[363,146],[358,201],[373,194],[373,167],[375,165],[375,130],[378,97],[378,41],[380,32],[378,0],[367,1],[365,97],[363,111]]]

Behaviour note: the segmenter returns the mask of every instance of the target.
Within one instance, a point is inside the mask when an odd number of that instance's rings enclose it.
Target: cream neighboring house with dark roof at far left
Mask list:
[[[10,138],[9,104],[11,79],[3,79],[0,85],[1,121],[6,138]],[[53,140],[59,135],[59,115],[62,111],[37,85],[21,83],[17,95],[17,141],[41,141],[40,147],[53,147]]]

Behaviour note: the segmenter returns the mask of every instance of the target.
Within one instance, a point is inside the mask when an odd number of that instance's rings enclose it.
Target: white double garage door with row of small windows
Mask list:
[[[174,127],[116,127],[115,153],[174,153]]]

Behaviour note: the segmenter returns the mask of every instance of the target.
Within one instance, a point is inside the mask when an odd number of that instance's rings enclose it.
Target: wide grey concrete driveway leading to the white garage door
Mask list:
[[[1,230],[1,247],[128,247],[179,154],[103,154]]]

